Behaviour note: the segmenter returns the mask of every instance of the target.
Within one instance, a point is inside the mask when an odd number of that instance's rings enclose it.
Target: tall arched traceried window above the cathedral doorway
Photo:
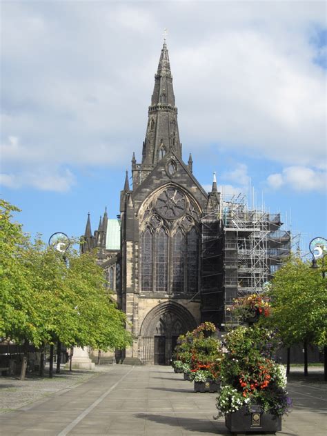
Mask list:
[[[186,192],[180,190],[184,198],[184,214],[172,218],[159,213],[158,199],[164,201],[164,193],[170,190],[179,192],[175,186],[157,192],[144,204],[144,212],[140,215],[143,228],[140,235],[141,291],[195,293],[199,268],[199,235],[196,230],[199,208]],[[177,201],[177,197],[173,199]]]

